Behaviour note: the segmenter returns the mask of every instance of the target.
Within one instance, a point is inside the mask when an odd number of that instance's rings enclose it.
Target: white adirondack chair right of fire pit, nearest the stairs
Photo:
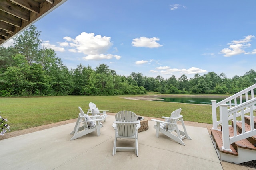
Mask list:
[[[174,141],[180,143],[181,145],[185,145],[182,141],[184,138],[192,140],[186,131],[186,127],[183,121],[183,116],[180,115],[181,109],[177,109],[172,112],[170,117],[162,117],[166,121],[160,121],[156,119],[151,119],[156,122],[154,128],[156,129],[156,137],[159,137],[159,132],[162,132],[164,135],[170,137]],[[177,125],[177,121],[181,121],[183,130],[180,130]],[[176,132],[176,133],[174,133]]]

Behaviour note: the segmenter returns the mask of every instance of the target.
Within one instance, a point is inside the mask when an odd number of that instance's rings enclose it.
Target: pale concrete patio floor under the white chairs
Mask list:
[[[163,134],[157,138],[151,119],[148,118],[149,129],[138,133],[138,157],[135,152],[116,152],[112,156],[114,113],[108,113],[98,137],[93,132],[70,141],[76,119],[6,133],[0,137],[1,167],[4,170],[253,169],[219,160],[209,135],[210,125],[185,122],[192,140],[184,139],[186,146],[183,146]],[[131,141],[118,140],[122,145],[133,144]]]

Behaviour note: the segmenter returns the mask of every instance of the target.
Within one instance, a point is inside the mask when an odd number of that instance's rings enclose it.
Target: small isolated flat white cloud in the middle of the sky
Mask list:
[[[147,37],[140,37],[135,38],[132,40],[132,46],[134,47],[148,47],[148,48],[157,48],[162,47],[163,45],[160,45],[156,41],[159,41],[159,38],[153,37],[153,38],[147,38]]]

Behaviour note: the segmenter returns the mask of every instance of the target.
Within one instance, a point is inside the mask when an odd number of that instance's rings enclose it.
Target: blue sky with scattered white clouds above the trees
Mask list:
[[[68,0],[35,25],[68,68],[232,78],[256,70],[255,7],[255,0]]]

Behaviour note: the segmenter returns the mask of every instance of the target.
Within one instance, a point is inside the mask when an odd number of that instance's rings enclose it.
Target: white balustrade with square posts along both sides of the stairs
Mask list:
[[[222,140],[223,140],[223,150],[230,151],[230,144],[235,141],[240,141],[248,137],[256,135],[256,129],[254,129],[253,121],[253,111],[256,109],[256,98],[254,98],[254,89],[256,84],[230,96],[221,102],[216,103],[216,100],[212,101],[212,124],[213,129],[219,130],[218,125],[222,125]],[[251,94],[251,98],[248,98],[248,93]],[[245,102],[243,102],[245,98]],[[239,99],[239,103],[237,102]],[[227,104],[228,103],[228,104]],[[217,109],[220,107],[220,120],[217,121]],[[245,131],[244,115],[247,114],[250,116],[250,131]],[[236,131],[236,119],[240,117],[242,121],[242,133],[237,134]],[[233,120],[234,123],[234,136],[229,137],[229,121]]]

